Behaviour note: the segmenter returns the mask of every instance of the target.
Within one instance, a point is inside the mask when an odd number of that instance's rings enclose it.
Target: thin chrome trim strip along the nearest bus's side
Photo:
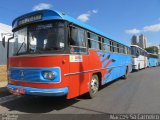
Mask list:
[[[118,68],[118,67],[122,67],[122,66],[124,66],[124,65],[101,68],[101,69],[94,69],[94,70],[86,70],[86,71],[82,71],[82,72],[67,73],[67,74],[64,74],[64,76],[75,75],[75,74],[83,74],[83,73],[94,72],[94,71],[105,70],[105,69],[113,69],[113,68]]]

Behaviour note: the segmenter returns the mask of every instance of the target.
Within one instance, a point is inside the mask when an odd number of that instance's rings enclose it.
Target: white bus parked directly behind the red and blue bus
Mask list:
[[[138,45],[131,45],[131,54],[133,56],[132,69],[140,70],[147,67],[147,51]]]

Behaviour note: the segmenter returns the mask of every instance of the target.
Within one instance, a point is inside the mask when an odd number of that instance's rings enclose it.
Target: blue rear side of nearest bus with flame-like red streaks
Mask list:
[[[102,75],[102,84],[111,82],[126,73],[126,68],[129,72],[132,69],[132,57],[129,55],[98,52],[101,55],[100,61],[102,68],[106,69],[106,73]]]

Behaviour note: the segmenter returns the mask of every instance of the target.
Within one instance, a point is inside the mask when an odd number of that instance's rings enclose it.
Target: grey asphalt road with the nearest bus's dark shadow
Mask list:
[[[0,104],[0,113],[160,113],[160,67],[130,73],[103,86],[94,99],[23,96]]]

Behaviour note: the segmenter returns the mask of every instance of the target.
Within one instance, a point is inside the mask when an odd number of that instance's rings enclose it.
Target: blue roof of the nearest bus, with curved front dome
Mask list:
[[[117,41],[117,40],[114,40],[111,36],[109,35],[106,35],[105,33],[95,29],[94,27],[91,27],[89,25],[86,25],[84,24],[83,22],[80,22],[79,20],[71,17],[71,16],[68,16],[64,13],[61,13],[61,12],[58,12],[58,11],[52,11],[52,10],[40,10],[40,11],[35,11],[35,12],[31,12],[31,13],[27,13],[27,14],[24,14],[20,17],[17,17],[13,22],[12,22],[12,26],[13,26],[13,29],[15,29],[16,27],[18,27],[18,22],[20,20],[25,20],[27,19],[27,17],[31,18],[31,16],[34,16],[34,15],[37,15],[37,14],[42,14],[42,19],[41,20],[36,20],[36,21],[32,21],[32,22],[40,22],[40,21],[47,21],[47,20],[66,20],[68,22],[71,22],[73,24],[76,24],[82,28],[85,28],[91,32],[94,32],[96,34],[99,34],[103,37],[107,37],[113,41],[116,41],[120,44],[123,44],[127,47],[130,47],[129,45],[126,45],[124,43],[122,43],[121,41]],[[27,20],[26,20],[27,21]],[[28,23],[31,23],[31,22],[28,22]]]

